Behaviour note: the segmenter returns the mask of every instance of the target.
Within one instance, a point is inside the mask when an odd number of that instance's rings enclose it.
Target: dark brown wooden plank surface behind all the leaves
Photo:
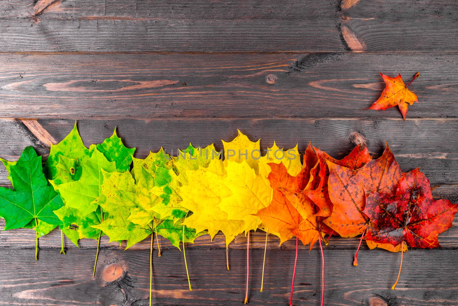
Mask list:
[[[74,120],[87,145],[114,126],[136,157],[149,150],[251,139],[301,150],[311,141],[339,158],[365,137],[388,142],[404,171],[421,167],[434,197],[458,201],[458,3],[453,0],[0,0],[0,156],[33,145],[46,156]],[[420,103],[362,110],[380,95],[379,72],[410,80]],[[0,184],[10,186],[3,166]],[[457,225],[458,219],[454,224]],[[105,237],[96,277],[93,240],[60,233],[0,233],[1,305],[148,305],[147,240],[124,251]],[[250,305],[288,305],[294,241],[271,237],[264,292],[264,234],[251,235]],[[458,228],[442,248],[400,254],[332,238],[324,250],[325,305],[458,305]],[[246,239],[200,237],[183,254],[161,240],[153,259],[154,305],[241,305]],[[154,250],[157,255],[157,250]],[[294,305],[320,305],[321,258],[300,247]]]

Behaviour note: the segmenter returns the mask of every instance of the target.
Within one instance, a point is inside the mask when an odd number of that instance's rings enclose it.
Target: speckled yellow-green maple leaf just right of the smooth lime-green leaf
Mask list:
[[[95,201],[108,212],[108,217],[94,228],[104,231],[110,241],[127,240],[126,249],[145,239],[153,231],[129,221],[134,205],[136,186],[129,171],[103,172],[104,182],[100,197]]]

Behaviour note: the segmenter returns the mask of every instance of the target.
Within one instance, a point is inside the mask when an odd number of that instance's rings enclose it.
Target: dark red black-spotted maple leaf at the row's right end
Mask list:
[[[365,239],[393,246],[407,242],[421,248],[438,247],[438,234],[452,226],[457,204],[434,201],[426,176],[414,169],[404,173],[394,193],[367,191],[363,213],[369,218]]]

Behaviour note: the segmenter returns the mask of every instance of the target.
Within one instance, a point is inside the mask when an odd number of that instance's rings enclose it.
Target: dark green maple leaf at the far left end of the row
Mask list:
[[[35,220],[47,224],[62,224],[53,212],[60,208],[59,194],[48,185],[41,164],[41,156],[32,147],[22,152],[17,162],[1,159],[13,189],[0,187],[0,215],[5,219],[5,230],[24,227]]]

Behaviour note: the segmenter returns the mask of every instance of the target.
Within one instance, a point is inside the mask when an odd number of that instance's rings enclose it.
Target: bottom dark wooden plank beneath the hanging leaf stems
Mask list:
[[[83,249],[59,255],[2,248],[0,256],[1,305],[148,305],[149,251],[102,250],[96,278],[93,254]],[[348,250],[325,248],[325,305],[456,306],[456,250],[414,250],[404,254],[397,290],[399,254],[363,252],[360,265],[351,264]],[[153,258],[153,305],[240,305],[245,297],[246,254],[188,247],[186,258],[193,291],[187,289],[183,254],[164,251]],[[259,292],[263,250],[251,250],[249,302],[288,305],[294,250],[268,250],[264,290]],[[205,260],[203,260],[205,258]],[[53,267],[50,269],[49,267]],[[419,268],[421,266],[421,268]],[[294,305],[319,305],[321,258],[319,250],[300,248],[294,286]],[[378,297],[382,304],[369,303]]]

